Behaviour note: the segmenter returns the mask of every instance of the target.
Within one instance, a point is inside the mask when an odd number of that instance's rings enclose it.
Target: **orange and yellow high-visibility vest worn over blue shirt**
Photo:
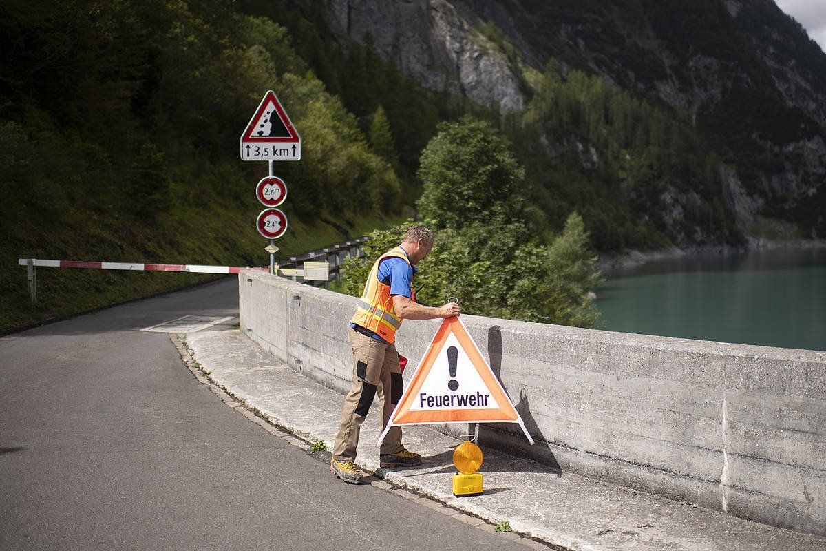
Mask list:
[[[401,326],[401,318],[396,316],[396,311],[393,310],[390,286],[378,280],[378,265],[382,263],[382,260],[390,258],[404,259],[408,265],[411,265],[405,249],[402,249],[401,246],[394,247],[378,257],[376,264],[373,264],[373,268],[370,270],[367,283],[364,284],[361,304],[356,308],[356,313],[350,323],[361,325],[364,329],[373,331],[373,333],[392,344],[396,342],[396,330]],[[411,300],[415,301],[412,282]]]

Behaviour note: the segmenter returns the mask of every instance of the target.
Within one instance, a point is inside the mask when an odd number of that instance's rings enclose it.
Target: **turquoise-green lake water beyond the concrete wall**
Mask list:
[[[603,277],[602,329],[826,350],[826,249],[686,256]]]

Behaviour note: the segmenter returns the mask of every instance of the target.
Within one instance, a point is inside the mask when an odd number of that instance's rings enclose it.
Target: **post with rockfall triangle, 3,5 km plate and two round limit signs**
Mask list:
[[[269,175],[259,181],[255,197],[269,208],[261,211],[255,226],[259,234],[270,240],[265,249],[269,253],[269,273],[274,275],[278,271],[275,264],[278,247],[274,240],[287,231],[287,216],[273,207],[278,207],[287,198],[287,184],[273,173],[273,162],[301,160],[301,135],[292,126],[290,117],[272,90],[264,94],[249,119],[241,134],[240,149],[241,160],[268,163]]]

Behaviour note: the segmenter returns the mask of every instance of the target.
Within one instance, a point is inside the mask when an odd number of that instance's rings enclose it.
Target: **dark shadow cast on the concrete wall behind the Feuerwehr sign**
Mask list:
[[[493,371],[493,374],[496,375],[496,379],[499,380],[502,388],[505,388],[505,392],[508,397],[510,397],[510,401],[514,401],[511,393],[508,392],[508,389],[505,386],[505,383],[502,382],[501,378],[501,325],[491,325],[491,327],[487,330],[487,357],[491,360],[491,370]],[[530,412],[528,393],[525,392],[524,389],[520,390],[520,401],[515,403],[514,406],[516,411],[518,411],[522,417],[522,420],[525,422],[525,428],[528,429],[530,435],[534,437],[534,440],[536,440],[535,445],[541,446],[544,449],[542,454],[529,453],[529,457],[532,456],[534,458],[538,458],[541,463],[548,466],[551,473],[556,473],[558,476],[562,476],[563,469],[559,466],[556,456],[553,455],[553,451],[548,447],[548,444],[546,444],[545,435],[542,434],[542,430],[539,429],[539,425],[536,420],[534,420],[534,415]],[[529,446],[527,445],[527,442],[522,443],[521,440],[517,442],[516,439],[524,438],[525,435],[522,434],[522,430],[513,423],[487,423],[485,425],[480,425],[479,427],[480,442],[484,439],[495,440],[499,443],[500,447],[501,444],[505,444],[508,448],[519,450],[521,452],[520,454],[524,454],[525,448]]]

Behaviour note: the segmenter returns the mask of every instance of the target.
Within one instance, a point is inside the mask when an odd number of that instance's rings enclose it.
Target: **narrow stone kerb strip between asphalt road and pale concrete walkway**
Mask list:
[[[178,350],[178,354],[180,354],[184,366],[189,370],[190,373],[192,373],[192,376],[195,377],[198,382],[201,382],[202,384],[206,385],[207,388],[209,388],[209,390],[216,395],[216,397],[221,398],[221,401],[224,402],[226,406],[229,406],[235,411],[239,411],[241,415],[249,419],[255,425],[259,425],[263,430],[266,430],[270,435],[283,439],[288,444],[292,444],[293,446],[296,446],[297,448],[304,450],[306,454],[310,455],[313,458],[316,458],[325,463],[330,462],[330,458],[332,456],[329,451],[311,451],[311,445],[316,444],[318,440],[313,440],[311,438],[298,435],[292,430],[289,430],[287,427],[279,425],[278,423],[274,422],[270,416],[264,414],[257,407],[250,406],[249,404],[247,404],[246,401],[244,401],[244,398],[237,396],[233,392],[230,392],[226,389],[225,386],[219,384],[213,378],[211,378],[211,371],[203,368],[201,363],[198,363],[193,358],[193,351],[188,347],[186,335],[182,335],[179,333],[168,333],[168,335],[169,340],[172,342],[175,349]],[[510,532],[496,532],[497,520],[488,520],[483,519],[477,515],[472,515],[468,511],[456,509],[455,507],[450,506],[444,501],[439,501],[439,499],[436,496],[428,495],[425,492],[419,492],[414,488],[407,486],[406,484],[399,484],[392,480],[388,480],[388,473],[385,469],[377,468],[375,471],[371,471],[367,468],[363,468],[363,470],[366,473],[368,473],[371,477],[376,478],[375,481],[369,482],[371,486],[377,487],[378,489],[383,490],[385,492],[393,493],[396,496],[407,499],[409,501],[418,503],[420,506],[425,506],[430,509],[433,509],[434,511],[438,511],[439,513],[442,513],[444,515],[453,517],[460,522],[464,522],[465,524],[470,525],[472,528],[476,528],[477,530],[482,530],[490,534],[499,534],[502,538],[510,539],[515,543],[522,544],[528,549],[553,549],[554,551],[571,551],[571,548],[563,547],[558,544],[553,544],[544,540],[540,540],[528,534],[521,534],[517,530],[511,530]]]

